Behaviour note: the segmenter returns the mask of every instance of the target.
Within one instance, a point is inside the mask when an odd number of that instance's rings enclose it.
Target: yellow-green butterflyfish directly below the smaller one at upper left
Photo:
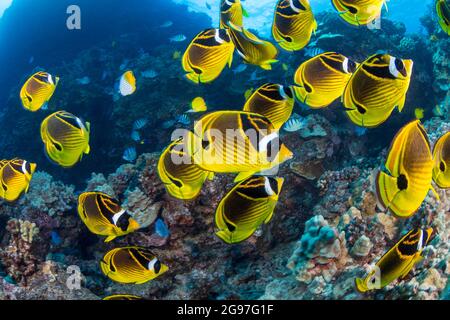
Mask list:
[[[41,139],[50,160],[64,168],[74,166],[89,154],[90,124],[66,111],[58,111],[42,121]]]

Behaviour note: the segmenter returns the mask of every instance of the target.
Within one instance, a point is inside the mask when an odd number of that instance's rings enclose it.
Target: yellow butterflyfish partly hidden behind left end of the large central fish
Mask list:
[[[158,175],[167,192],[183,200],[196,197],[205,180],[214,177],[212,173],[195,165],[188,155],[186,142],[190,141],[192,133],[189,132],[188,135],[172,142],[163,151],[158,162]]]

